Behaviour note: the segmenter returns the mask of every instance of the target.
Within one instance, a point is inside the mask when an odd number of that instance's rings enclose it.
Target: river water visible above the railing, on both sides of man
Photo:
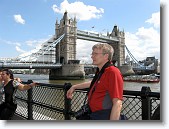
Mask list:
[[[48,75],[29,75],[29,74],[15,74],[15,77],[21,78],[22,81],[32,80],[39,83],[50,83],[50,84],[61,84],[71,83],[78,84],[82,82],[89,81],[85,80],[49,80]],[[141,91],[142,86],[149,86],[152,92],[160,92],[160,82],[159,83],[137,83],[137,82],[124,82],[124,90]]]

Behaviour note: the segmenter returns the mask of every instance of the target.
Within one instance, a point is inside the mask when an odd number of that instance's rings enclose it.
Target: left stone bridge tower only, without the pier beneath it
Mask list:
[[[64,13],[60,24],[58,24],[57,20],[55,24],[56,39],[62,34],[65,34],[65,37],[56,46],[56,63],[67,64],[69,60],[76,60],[77,39],[76,18],[69,19],[67,12]]]

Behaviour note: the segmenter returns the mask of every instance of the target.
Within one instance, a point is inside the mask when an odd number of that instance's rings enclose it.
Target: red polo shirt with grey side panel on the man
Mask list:
[[[88,95],[92,112],[111,109],[113,98],[123,99],[123,77],[119,69],[114,66],[107,67],[92,89]]]

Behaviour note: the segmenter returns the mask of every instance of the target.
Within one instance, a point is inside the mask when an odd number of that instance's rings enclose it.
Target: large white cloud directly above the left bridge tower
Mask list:
[[[97,9],[95,6],[85,5],[83,2],[77,1],[74,3],[69,3],[67,0],[64,0],[60,7],[53,5],[52,9],[55,13],[63,14],[65,11],[68,11],[70,17],[76,16],[78,20],[90,20],[92,18],[99,19],[104,13],[104,9]]]

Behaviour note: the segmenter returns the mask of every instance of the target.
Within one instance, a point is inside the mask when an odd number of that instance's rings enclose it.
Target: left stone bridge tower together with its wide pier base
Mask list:
[[[64,38],[56,45],[56,63],[61,63],[62,68],[51,69],[49,79],[84,79],[84,65],[76,60],[77,21],[68,17],[67,11],[63,18],[56,20],[55,38],[65,34]]]

